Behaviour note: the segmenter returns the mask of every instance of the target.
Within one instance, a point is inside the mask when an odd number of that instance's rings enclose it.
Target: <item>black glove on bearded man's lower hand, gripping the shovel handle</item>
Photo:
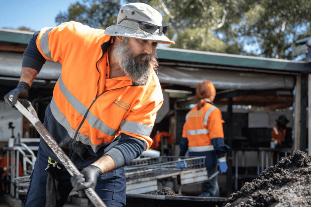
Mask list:
[[[75,175],[70,178],[73,190],[79,193],[81,197],[84,194],[84,190],[92,187],[95,190],[98,176],[101,174],[99,167],[95,165],[89,165],[81,170],[81,175]]]

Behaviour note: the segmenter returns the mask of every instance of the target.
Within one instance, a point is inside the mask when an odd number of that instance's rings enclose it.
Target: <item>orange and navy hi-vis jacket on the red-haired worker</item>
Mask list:
[[[179,148],[190,156],[206,156],[205,167],[217,164],[217,151],[225,153],[229,146],[225,145],[220,110],[207,102],[200,110],[193,107],[186,115],[183,125],[182,140]],[[188,146],[186,146],[188,145]]]

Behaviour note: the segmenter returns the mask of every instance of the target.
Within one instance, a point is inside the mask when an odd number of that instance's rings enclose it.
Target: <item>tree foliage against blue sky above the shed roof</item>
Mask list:
[[[120,0],[83,0],[60,12],[94,28],[116,24]],[[124,0],[122,3],[138,2]],[[169,47],[291,59],[295,41],[311,36],[311,0],[141,0],[169,25]]]

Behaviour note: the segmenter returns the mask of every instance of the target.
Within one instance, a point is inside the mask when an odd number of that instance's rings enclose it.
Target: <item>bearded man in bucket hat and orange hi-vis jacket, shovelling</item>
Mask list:
[[[72,187],[93,187],[107,206],[125,205],[123,166],[151,146],[163,102],[154,70],[157,44],[174,44],[166,29],[158,11],[131,3],[121,7],[117,25],[106,30],[71,21],[34,34],[20,82],[5,101],[14,107],[17,99],[27,99],[45,60],[59,61],[62,71],[44,126],[82,176],[71,177],[40,137],[24,206],[63,206]]]

